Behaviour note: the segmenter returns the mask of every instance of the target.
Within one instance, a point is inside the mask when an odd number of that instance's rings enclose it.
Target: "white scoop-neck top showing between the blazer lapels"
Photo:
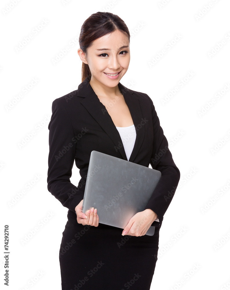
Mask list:
[[[133,125],[128,126],[128,127],[117,127],[116,126],[116,128],[121,136],[127,160],[129,160],[129,157],[133,151],[134,143],[136,140],[135,126],[133,124]],[[155,219],[155,221],[159,222],[158,217]]]

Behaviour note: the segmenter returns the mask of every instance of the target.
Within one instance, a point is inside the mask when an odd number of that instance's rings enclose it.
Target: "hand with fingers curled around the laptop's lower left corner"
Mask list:
[[[97,209],[92,207],[91,210],[88,210],[86,214],[82,212],[83,200],[75,207],[75,212],[77,214],[77,222],[83,225],[98,226],[99,217],[97,214]]]

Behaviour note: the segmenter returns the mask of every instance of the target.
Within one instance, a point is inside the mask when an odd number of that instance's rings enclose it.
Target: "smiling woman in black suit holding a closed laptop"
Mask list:
[[[88,17],[79,36],[82,83],[52,102],[47,182],[68,208],[59,251],[65,290],[150,289],[159,230],[180,179],[151,98],[120,83],[130,62],[129,42],[117,15]],[[93,150],[161,171],[144,211],[124,229],[101,224],[96,209],[81,211]],[[77,186],[70,182],[74,161],[81,176]],[[151,226],[154,235],[145,235]]]

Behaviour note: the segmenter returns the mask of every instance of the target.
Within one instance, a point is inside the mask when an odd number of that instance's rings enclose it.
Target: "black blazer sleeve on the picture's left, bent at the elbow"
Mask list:
[[[49,155],[48,155],[48,191],[61,204],[75,212],[75,207],[84,197],[84,192],[70,182],[75,160],[76,142],[68,111],[55,99],[52,102],[52,116],[48,124]]]

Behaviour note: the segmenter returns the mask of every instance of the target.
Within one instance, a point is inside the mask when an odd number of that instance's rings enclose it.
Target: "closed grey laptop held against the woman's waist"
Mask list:
[[[97,209],[99,223],[121,229],[143,211],[161,172],[93,150],[90,154],[82,212]],[[153,235],[150,226],[146,235]]]

